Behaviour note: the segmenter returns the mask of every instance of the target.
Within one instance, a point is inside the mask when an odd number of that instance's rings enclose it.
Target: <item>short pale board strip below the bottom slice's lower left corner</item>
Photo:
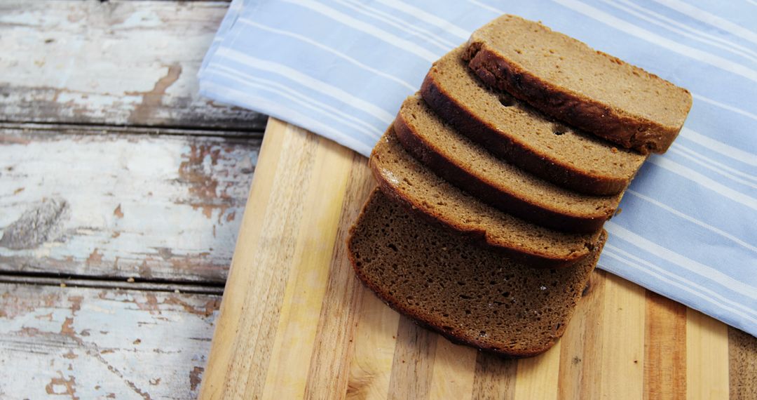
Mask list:
[[[362,299],[354,352],[349,360],[347,398],[379,400],[389,393],[400,314],[364,286],[360,286],[359,292]]]

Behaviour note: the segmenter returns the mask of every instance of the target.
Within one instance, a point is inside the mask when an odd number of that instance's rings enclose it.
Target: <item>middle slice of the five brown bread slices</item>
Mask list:
[[[572,192],[496,158],[441,120],[419,95],[394,120],[407,152],[437,175],[502,211],[567,232],[593,233],[612,217],[620,195]]]

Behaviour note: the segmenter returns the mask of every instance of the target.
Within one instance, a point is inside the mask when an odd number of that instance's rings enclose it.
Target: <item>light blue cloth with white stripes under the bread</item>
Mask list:
[[[681,135],[606,224],[600,267],[757,336],[755,0],[235,0],[201,92],[369,155],[431,62],[500,14],[690,89]]]

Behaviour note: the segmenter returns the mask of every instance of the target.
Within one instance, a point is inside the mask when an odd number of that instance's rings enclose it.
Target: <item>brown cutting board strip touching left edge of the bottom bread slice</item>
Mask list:
[[[366,158],[350,152],[350,171],[345,189],[343,210],[338,218],[334,257],[322,300],[318,332],[310,368],[307,373],[305,398],[334,398],[346,395],[350,377],[350,360],[354,350],[357,319],[360,315],[362,286],[347,258],[347,236],[363,203],[375,186]],[[307,268],[306,268],[307,269]]]

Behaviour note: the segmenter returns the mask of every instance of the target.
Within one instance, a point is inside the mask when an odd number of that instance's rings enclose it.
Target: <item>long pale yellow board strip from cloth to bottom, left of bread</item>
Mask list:
[[[294,241],[291,264],[279,265],[280,268],[288,267],[290,272],[263,398],[300,398],[305,392],[310,355],[316,346],[316,330],[332,265],[333,243],[354,154],[312,133],[307,136],[313,136],[312,139],[318,142],[313,164],[304,170],[310,171],[313,178],[307,186],[299,188],[300,202],[307,205],[307,212],[296,222],[299,232]],[[333,339],[332,342],[336,344]]]

